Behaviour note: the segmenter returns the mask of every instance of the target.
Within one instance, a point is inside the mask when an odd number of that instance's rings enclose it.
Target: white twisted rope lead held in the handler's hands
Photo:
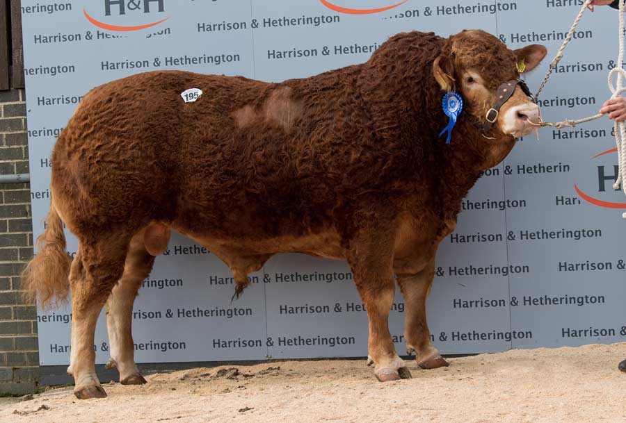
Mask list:
[[[561,48],[559,49],[559,52],[556,53],[556,56],[554,56],[554,59],[552,60],[552,63],[550,63],[550,68],[545,76],[545,78],[543,78],[543,82],[541,83],[541,85],[539,86],[539,89],[537,90],[537,94],[535,94],[534,97],[534,101],[537,102],[537,99],[539,97],[539,93],[541,92],[541,90],[543,90],[543,87],[545,86],[545,84],[547,83],[548,78],[550,77],[550,75],[552,74],[552,72],[554,71],[554,69],[556,69],[556,65],[559,64],[559,62],[561,61],[561,59],[563,58],[563,51],[565,51],[565,47],[567,47],[567,45],[570,43],[570,41],[572,40],[572,37],[574,35],[574,31],[576,30],[578,24],[580,23],[580,20],[582,19],[585,10],[587,9],[587,6],[589,6],[591,4],[591,1],[593,0],[586,0],[585,3],[583,4],[582,8],[580,9],[580,12],[578,13],[578,16],[576,17],[574,23],[572,24],[572,27],[570,28],[570,31],[568,32],[568,35],[565,37],[565,40],[563,40],[563,45],[561,45]],[[624,88],[624,81],[623,78],[626,78],[626,71],[623,69],[623,63],[624,63],[624,12],[625,12],[625,4],[624,4],[625,0],[620,0],[620,53],[619,53],[619,57],[618,57],[618,61],[616,64],[616,67],[613,67],[613,69],[611,69],[611,72],[609,72],[609,78],[608,78],[608,83],[609,83],[609,90],[611,90],[611,99],[615,99],[617,97],[620,97],[621,94],[623,94],[624,92],[626,92],[626,88]],[[615,76],[615,74],[618,74],[618,80],[617,80],[617,84],[616,84],[616,88],[613,88],[613,76]],[[551,123],[551,122],[543,122],[543,119],[540,119],[539,124],[536,124],[536,126],[554,126],[556,128],[565,128],[565,127],[571,127],[573,128],[574,126],[576,126],[577,124],[581,124],[584,122],[590,122],[592,120],[598,119],[600,117],[604,116],[604,113],[598,113],[597,115],[593,115],[590,117],[585,117],[583,119],[578,119],[578,120],[572,120],[572,119],[565,119],[563,122],[556,122],[556,123]],[[531,122],[532,123],[532,122]],[[618,177],[615,181],[615,183],[613,183],[613,189],[617,190],[618,188],[620,188],[620,183],[622,183],[622,181],[626,181],[626,147],[625,142],[626,142],[626,122],[615,122],[613,124],[613,131],[615,132],[615,142],[617,145],[617,150],[618,150],[618,165],[619,165],[619,171],[618,171]],[[626,194],[626,183],[622,184],[622,190],[624,192],[624,194]],[[624,219],[626,219],[626,213],[623,213],[622,217]]]

